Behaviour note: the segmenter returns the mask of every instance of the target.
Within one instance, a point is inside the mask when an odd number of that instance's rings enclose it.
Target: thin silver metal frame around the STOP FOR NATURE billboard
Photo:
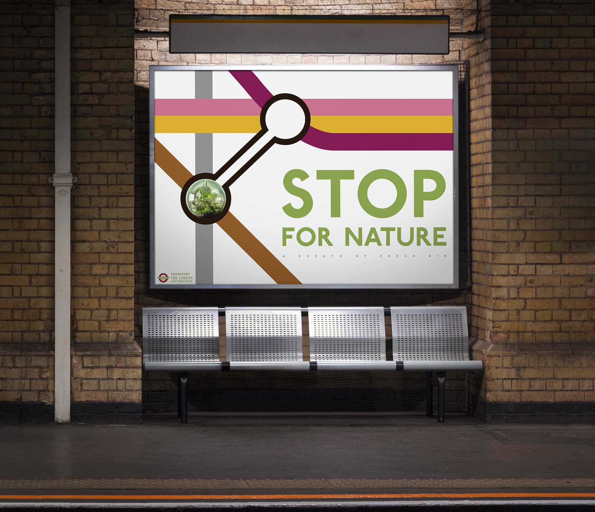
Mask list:
[[[453,85],[453,282],[447,284],[362,284],[343,285],[157,285],[155,284],[155,71],[450,71]],[[150,289],[459,289],[459,67],[458,64],[419,65],[151,65],[149,66],[149,238]],[[177,204],[176,204],[177,205]]]

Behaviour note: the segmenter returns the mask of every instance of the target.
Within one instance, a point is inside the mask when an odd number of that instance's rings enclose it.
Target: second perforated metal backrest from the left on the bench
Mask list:
[[[302,361],[302,310],[226,308],[228,361]]]

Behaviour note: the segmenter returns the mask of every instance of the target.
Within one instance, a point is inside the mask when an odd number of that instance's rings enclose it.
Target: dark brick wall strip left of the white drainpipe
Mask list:
[[[54,6],[0,25],[0,402],[52,402]]]

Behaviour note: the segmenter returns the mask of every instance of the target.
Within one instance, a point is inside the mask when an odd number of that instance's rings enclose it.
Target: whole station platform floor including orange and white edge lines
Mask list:
[[[0,508],[36,507],[595,510],[595,426],[454,416],[0,426]]]

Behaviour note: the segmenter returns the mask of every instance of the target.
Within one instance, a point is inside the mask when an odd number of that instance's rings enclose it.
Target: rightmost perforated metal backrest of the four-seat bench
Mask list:
[[[390,316],[395,361],[469,360],[465,307],[392,307]]]

